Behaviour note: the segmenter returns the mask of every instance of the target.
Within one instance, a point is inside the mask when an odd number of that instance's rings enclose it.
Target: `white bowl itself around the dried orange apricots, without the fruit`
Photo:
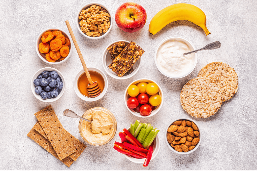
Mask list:
[[[38,45],[40,44],[39,42],[40,42],[40,40],[41,40],[42,35],[43,35],[45,32],[47,32],[47,31],[52,31],[52,30],[59,30],[59,31],[65,33],[65,34],[68,36],[69,40],[70,40],[70,52],[69,52],[68,56],[67,56],[65,59],[63,59],[62,61],[59,61],[59,62],[49,62],[49,61],[47,61],[46,59],[44,59],[44,58],[40,55],[41,53],[39,52],[39,49],[38,49]],[[70,37],[65,31],[63,31],[63,30],[60,29],[60,28],[51,27],[51,28],[45,29],[44,31],[42,31],[42,32],[38,35],[38,38],[36,39],[36,53],[38,54],[39,58],[40,58],[42,61],[44,61],[44,62],[46,62],[46,63],[48,63],[48,64],[57,65],[57,64],[61,64],[61,63],[65,62],[65,61],[67,61],[67,60],[69,59],[69,57],[70,57],[71,54],[72,54],[72,50],[73,50],[73,46],[72,46],[72,45],[73,45],[72,39],[71,39],[71,37]]]

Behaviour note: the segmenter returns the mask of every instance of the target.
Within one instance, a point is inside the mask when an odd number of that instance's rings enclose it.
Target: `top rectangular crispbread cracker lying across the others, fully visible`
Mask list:
[[[43,128],[47,138],[50,140],[58,157],[63,158],[76,152],[65,129],[62,127],[58,117],[54,113],[51,105],[34,114]]]

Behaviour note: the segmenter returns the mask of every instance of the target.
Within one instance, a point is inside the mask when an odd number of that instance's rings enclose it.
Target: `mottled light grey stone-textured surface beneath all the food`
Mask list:
[[[126,1],[97,1],[105,4],[114,15],[118,6]],[[88,1],[0,1],[0,169],[9,170],[256,170],[256,1],[134,1],[147,12],[145,26],[136,33],[121,31],[113,23],[111,32],[99,40],[90,40],[77,30],[75,16]],[[205,36],[203,30],[188,21],[168,24],[156,35],[148,33],[151,18],[164,7],[176,3],[189,3],[201,8],[207,17],[207,28],[212,33]],[[102,54],[113,41],[134,41],[145,50],[142,64],[135,76],[116,80],[106,73],[109,86],[105,96],[97,102],[85,102],[74,92],[73,80],[82,69],[74,48],[65,63],[51,65],[43,62],[35,51],[37,36],[50,27],[68,32],[65,20],[69,20],[87,66],[97,67],[104,73]],[[196,48],[220,41],[222,46],[213,51],[198,52],[198,62],[187,77],[171,79],[162,75],[154,63],[154,51],[164,38],[179,35],[188,38]],[[206,64],[222,61],[233,67],[238,75],[239,88],[235,96],[223,103],[221,109],[207,119],[195,119],[181,107],[179,94],[183,85],[197,76]],[[87,145],[87,148],[70,168],[27,137],[36,123],[35,112],[50,105],[36,99],[30,88],[33,74],[43,67],[58,69],[66,79],[63,96],[50,103],[63,127]],[[140,119],[125,107],[123,96],[128,84],[139,78],[156,81],[164,93],[161,110],[150,118]],[[117,119],[114,139],[103,146],[85,143],[78,131],[79,119],[63,117],[68,108],[82,115],[92,107],[105,107]],[[191,154],[172,152],[164,141],[164,129],[171,120],[179,117],[194,119],[202,130],[199,148]],[[160,129],[161,148],[148,167],[135,164],[113,149],[119,140],[118,132],[140,119]]]

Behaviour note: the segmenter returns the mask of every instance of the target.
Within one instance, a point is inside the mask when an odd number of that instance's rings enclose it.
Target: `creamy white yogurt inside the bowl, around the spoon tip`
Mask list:
[[[161,71],[171,77],[182,77],[189,73],[195,64],[195,54],[183,55],[190,52],[189,46],[176,40],[170,40],[162,44],[156,55],[157,64]]]

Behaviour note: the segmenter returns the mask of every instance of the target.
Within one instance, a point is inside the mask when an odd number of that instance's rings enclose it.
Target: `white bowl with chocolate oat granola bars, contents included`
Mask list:
[[[143,53],[144,50],[134,42],[115,41],[104,50],[102,59],[104,70],[116,79],[131,78],[140,68]]]

